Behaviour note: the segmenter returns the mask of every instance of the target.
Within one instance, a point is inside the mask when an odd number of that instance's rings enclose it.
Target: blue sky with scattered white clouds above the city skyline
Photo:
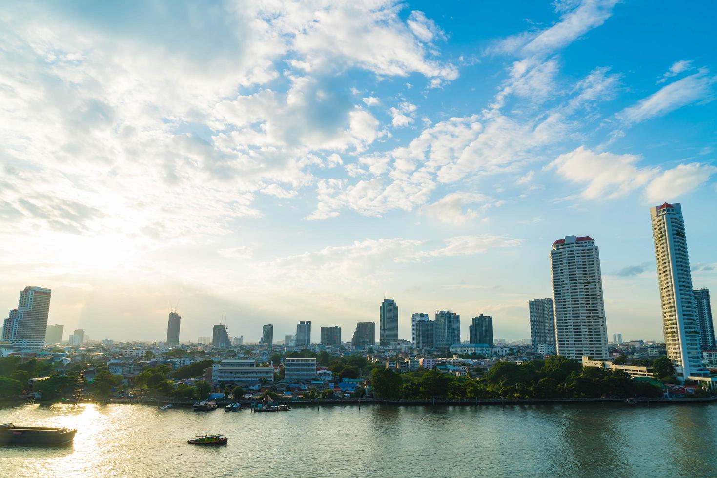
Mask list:
[[[555,239],[599,247],[608,336],[663,340],[650,207],[717,291],[717,4],[0,5],[0,307],[65,337],[276,341],[493,315],[529,338]],[[717,293],[717,292],[715,292]],[[0,312],[4,313],[4,312]],[[377,327],[378,328],[378,327]],[[376,331],[378,334],[378,330]]]

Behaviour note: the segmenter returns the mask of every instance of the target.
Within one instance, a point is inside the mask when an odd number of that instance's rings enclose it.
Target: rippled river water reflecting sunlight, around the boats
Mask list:
[[[0,423],[76,428],[0,448],[2,477],[645,477],[717,474],[717,404],[323,406],[252,414],[29,405]],[[229,444],[186,444],[200,433]]]

